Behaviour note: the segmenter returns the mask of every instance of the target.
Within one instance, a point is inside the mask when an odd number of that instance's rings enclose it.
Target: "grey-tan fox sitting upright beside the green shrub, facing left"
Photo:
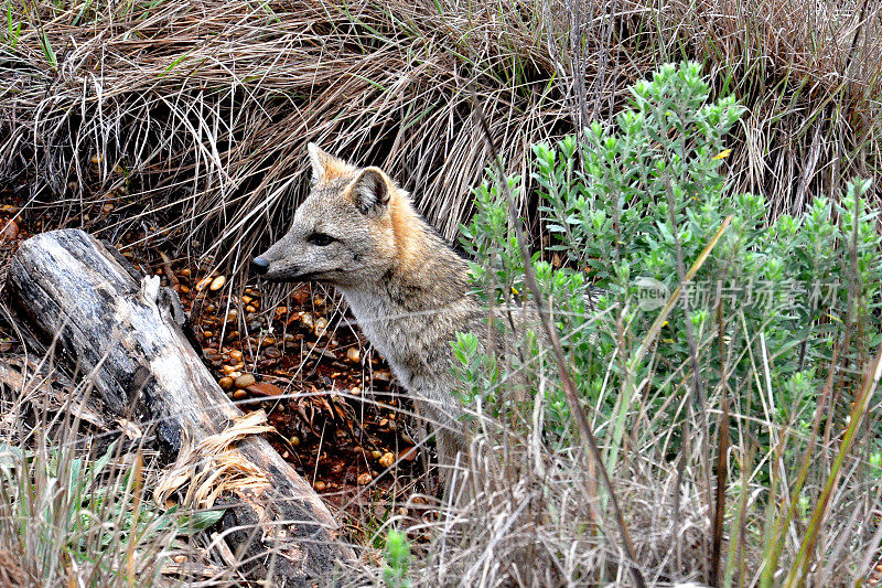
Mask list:
[[[251,267],[269,281],[315,281],[343,295],[370,344],[434,429],[445,483],[466,450],[451,341],[482,332],[469,265],[377,167],[308,145],[312,186],[289,231]],[[484,329],[486,330],[486,329]]]

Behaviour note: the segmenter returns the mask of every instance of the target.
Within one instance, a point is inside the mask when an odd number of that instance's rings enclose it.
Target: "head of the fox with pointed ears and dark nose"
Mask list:
[[[379,168],[359,169],[313,143],[312,191],[288,233],[252,261],[271,281],[377,281],[400,264],[417,213]]]

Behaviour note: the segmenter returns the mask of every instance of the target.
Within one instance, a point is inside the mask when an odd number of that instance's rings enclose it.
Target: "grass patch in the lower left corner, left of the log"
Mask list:
[[[204,557],[204,537],[184,539],[184,520],[151,502],[158,456],[143,438],[107,430],[82,400],[84,389],[52,370],[49,357],[0,364],[0,584],[161,586],[213,578],[224,586],[235,578],[233,566]]]

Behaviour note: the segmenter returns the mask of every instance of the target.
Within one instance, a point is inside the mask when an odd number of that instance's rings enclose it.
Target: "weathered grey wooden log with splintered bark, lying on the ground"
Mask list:
[[[36,235],[12,257],[10,302],[61,361],[94,382],[111,415],[153,430],[172,461],[241,413],[184,335],[176,296],[155,277],[139,284],[123,265],[82,231]],[[266,439],[246,435],[225,451],[226,463],[239,460],[252,481],[262,477],[227,496],[220,521],[233,550],[251,562],[249,575],[313,585],[354,558],[327,507]]]

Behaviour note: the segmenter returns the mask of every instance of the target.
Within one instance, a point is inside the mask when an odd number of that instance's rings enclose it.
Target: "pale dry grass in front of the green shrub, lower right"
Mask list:
[[[688,383],[690,366],[684,364],[681,371]],[[537,404],[541,397],[537,395]],[[797,424],[782,428],[774,418],[729,414],[734,437],[724,451],[724,470],[734,479],[724,481],[725,531],[714,538],[713,493],[720,470],[708,462],[702,446],[718,442],[725,397],[724,392],[713,391],[708,399],[713,428],[707,434],[701,432],[701,414],[681,396],[670,398],[669,410],[679,418],[677,427],[658,427],[654,415],[635,407],[620,458],[607,462],[633,539],[634,563],[646,585],[707,585],[714,573],[712,553],[719,541],[722,557],[716,568],[718,584],[712,585],[783,586],[797,569],[809,514],[828,480],[835,480],[833,492],[811,565],[807,577],[794,586],[867,581],[882,548],[879,470],[869,466],[865,451],[856,449],[846,455],[841,473],[831,473],[840,440],[805,449],[807,436]],[[600,414],[601,404],[589,407],[590,414]],[[389,528],[431,537],[429,545],[415,550],[409,576],[413,586],[635,586],[633,562],[622,548],[609,495],[585,467],[585,449],[550,451],[541,421],[536,420],[540,413],[537,406],[533,415],[518,415],[521,423],[515,428],[474,414],[490,434],[474,439],[471,461],[461,470],[460,488],[467,479],[472,490],[463,492],[459,502],[449,499],[430,507],[421,521],[412,514],[392,516],[377,531],[380,539]],[[872,415],[864,424],[874,423]],[[595,420],[593,427],[606,451],[615,447],[614,423]],[[695,431],[681,456],[688,464],[682,472],[678,471],[679,456],[671,459],[670,453],[671,437],[680,427]],[[859,427],[859,446],[872,443],[871,427]],[[756,440],[765,436],[776,442],[767,451],[757,451]],[[787,447],[798,447],[793,450],[800,452],[797,459],[785,455]],[[798,485],[794,461],[798,464],[804,450],[810,467],[794,504],[792,492]],[[412,513],[415,505],[408,506]],[[784,521],[792,506],[795,516]],[[768,570],[770,549],[778,541],[782,553]]]

